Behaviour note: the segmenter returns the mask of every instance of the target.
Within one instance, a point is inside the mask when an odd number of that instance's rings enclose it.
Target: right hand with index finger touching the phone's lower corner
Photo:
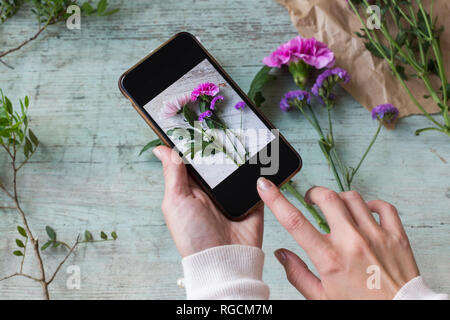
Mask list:
[[[408,237],[391,204],[382,200],[366,203],[355,191],[338,194],[314,187],[305,198],[325,215],[331,232],[324,235],[269,180],[258,180],[258,192],[319,273],[315,276],[287,249],[275,252],[289,282],[307,299],[392,299],[419,275]],[[380,223],[372,212],[378,213]]]

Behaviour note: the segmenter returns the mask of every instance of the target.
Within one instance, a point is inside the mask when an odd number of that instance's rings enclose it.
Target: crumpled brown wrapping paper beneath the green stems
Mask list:
[[[288,9],[294,26],[303,37],[315,37],[333,50],[336,66],[348,70],[351,75],[351,81],[343,85],[344,89],[366,109],[371,110],[382,103],[392,103],[399,109],[400,117],[421,114],[388,64],[383,59],[374,57],[365,48],[363,39],[355,35],[361,25],[346,1],[276,1]],[[433,12],[438,16],[438,24],[445,27],[441,34],[441,46],[447,75],[450,74],[450,19],[446,18],[450,13],[449,9],[450,1],[435,0]],[[439,79],[434,75],[431,78],[434,88],[439,88]],[[429,113],[440,111],[432,99],[424,98],[428,91],[422,81],[410,78],[407,85],[425,110]]]

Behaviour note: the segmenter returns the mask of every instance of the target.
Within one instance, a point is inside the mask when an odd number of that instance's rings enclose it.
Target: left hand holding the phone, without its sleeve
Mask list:
[[[241,244],[261,248],[264,206],[259,204],[243,221],[230,221],[188,176],[178,153],[154,149],[164,168],[164,217],[182,257],[208,248]],[[256,186],[255,186],[256,189]]]

